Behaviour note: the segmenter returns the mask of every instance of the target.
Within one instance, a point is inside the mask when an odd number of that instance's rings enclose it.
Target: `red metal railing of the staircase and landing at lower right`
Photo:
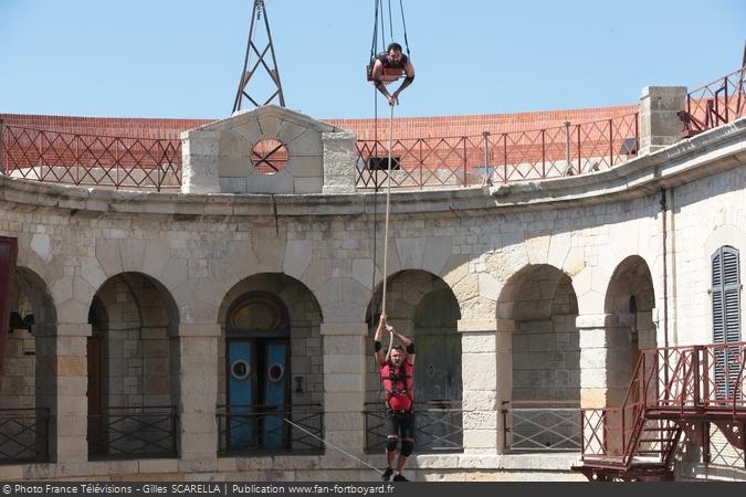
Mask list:
[[[665,463],[675,421],[746,419],[745,368],[746,342],[642,351],[620,408],[581,410],[584,461],[617,458],[629,466],[635,455],[654,453]],[[653,429],[659,440],[645,441]]]

